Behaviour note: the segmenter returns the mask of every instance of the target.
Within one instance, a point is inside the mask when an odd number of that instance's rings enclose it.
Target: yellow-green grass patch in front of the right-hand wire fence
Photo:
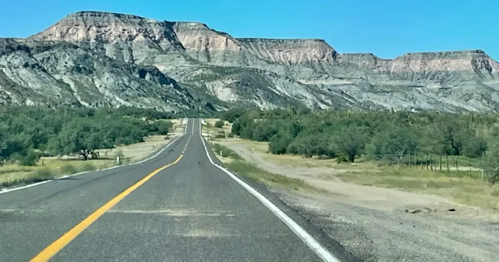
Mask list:
[[[466,171],[462,173],[385,167],[376,172],[363,170],[340,173],[337,177],[359,185],[451,197],[461,204],[499,210],[499,185],[491,187],[478,178],[479,172],[472,177]]]

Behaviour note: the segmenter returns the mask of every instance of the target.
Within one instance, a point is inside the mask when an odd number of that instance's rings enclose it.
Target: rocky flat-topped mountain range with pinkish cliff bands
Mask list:
[[[482,50],[382,59],[322,39],[236,38],[200,22],[72,13],[0,38],[0,103],[499,111],[499,63]]]

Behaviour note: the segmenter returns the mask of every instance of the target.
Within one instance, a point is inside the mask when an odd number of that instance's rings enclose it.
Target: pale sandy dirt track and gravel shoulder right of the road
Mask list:
[[[499,214],[452,199],[341,182],[346,170],[266,161],[248,145],[219,142],[273,173],[321,192],[274,189],[281,199],[368,262],[498,262]],[[351,171],[349,169],[349,171]],[[455,209],[456,212],[448,211]],[[408,212],[406,212],[406,210]],[[421,212],[412,214],[413,211]]]

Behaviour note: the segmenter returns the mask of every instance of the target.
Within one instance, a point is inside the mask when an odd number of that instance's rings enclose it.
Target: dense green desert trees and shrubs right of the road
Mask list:
[[[271,111],[220,114],[241,138],[268,152],[341,162],[374,162],[435,172],[461,171],[499,183],[499,115],[393,111]],[[466,168],[464,168],[466,167]]]

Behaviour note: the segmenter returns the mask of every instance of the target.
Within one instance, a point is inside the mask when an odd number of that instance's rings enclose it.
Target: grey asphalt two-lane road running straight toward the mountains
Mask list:
[[[351,261],[213,165],[200,126],[143,163],[0,194],[0,261]]]

